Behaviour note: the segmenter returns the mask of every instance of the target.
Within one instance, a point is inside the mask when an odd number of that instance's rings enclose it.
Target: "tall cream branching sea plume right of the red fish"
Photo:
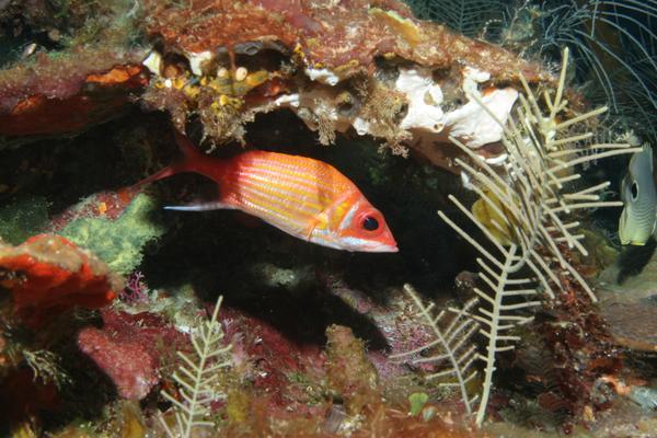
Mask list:
[[[554,299],[558,290],[565,289],[567,279],[572,285],[570,289],[579,287],[592,301],[597,300],[590,287],[564,256],[565,247],[579,251],[583,255],[588,254],[580,242],[584,235],[575,234],[579,222],[569,220],[568,215],[577,209],[620,206],[622,203],[600,200],[599,194],[609,185],[608,182],[568,193],[567,184],[580,177],[575,166],[641,150],[622,143],[597,143],[584,149],[576,147],[592,134],[570,134],[572,128],[575,125],[585,126],[587,120],[607,108],[601,107],[561,120],[564,114],[573,114],[563,99],[567,62],[566,48],[556,92],[554,95],[548,92],[543,94],[546,112],[541,110],[540,102],[520,74],[526,95],[520,94],[520,105],[515,117],[509,119],[508,127],[498,120],[504,128],[503,145],[507,154],[499,171],[452,138],[474,163],[456,160],[465,180],[471,182],[472,189],[494,212],[484,222],[459,199],[449,196],[479,228],[487,243],[484,240],[477,241],[445,212],[438,212],[481,254],[476,262],[481,267],[479,278],[483,286],[474,288],[474,292],[482,306],[474,312],[470,311],[471,306],[466,306],[466,309],[450,309],[479,322],[479,332],[487,339],[485,351],[479,355],[485,362],[485,370],[476,413],[477,425],[484,419],[496,355],[515,348],[514,342],[519,337],[510,332],[532,320],[531,308],[541,304],[541,293],[548,299]],[[476,96],[471,99],[479,101]],[[493,113],[488,113],[495,117]],[[580,154],[583,150],[587,153]],[[499,235],[507,239],[503,241]],[[424,314],[423,318],[426,319]]]

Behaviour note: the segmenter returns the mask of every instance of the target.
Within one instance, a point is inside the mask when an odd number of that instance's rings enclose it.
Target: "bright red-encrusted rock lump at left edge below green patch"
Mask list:
[[[16,312],[34,324],[74,306],[102,308],[123,287],[95,255],[53,234],[20,246],[0,243],[0,285],[13,295]]]

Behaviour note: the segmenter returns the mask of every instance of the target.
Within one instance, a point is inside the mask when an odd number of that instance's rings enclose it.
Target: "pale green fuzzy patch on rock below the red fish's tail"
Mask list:
[[[76,219],[60,234],[92,251],[113,272],[127,275],[141,263],[143,246],[165,231],[161,223],[153,221],[157,209],[153,198],[139,194],[118,219]]]

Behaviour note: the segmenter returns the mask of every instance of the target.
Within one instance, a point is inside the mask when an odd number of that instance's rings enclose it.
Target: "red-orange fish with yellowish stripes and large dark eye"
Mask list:
[[[383,215],[332,165],[260,150],[222,160],[196,150],[178,132],[176,140],[184,159],[136,185],[193,172],[218,183],[220,195],[216,201],[166,209],[238,209],[320,245],[346,251],[397,251]]]

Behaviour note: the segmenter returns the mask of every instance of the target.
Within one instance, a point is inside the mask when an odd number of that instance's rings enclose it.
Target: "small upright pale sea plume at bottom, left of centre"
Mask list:
[[[218,371],[231,365],[228,353],[232,347],[230,344],[221,345],[223,330],[217,316],[222,299],[223,297],[219,297],[217,300],[210,320],[203,323],[192,335],[192,345],[196,357],[177,353],[182,365],[173,373],[173,379],[180,387],[182,401],[168,392],[161,392],[175,410],[176,427],[174,430],[160,416],[160,423],[171,438],[189,438],[196,427],[215,426],[212,422],[203,418],[209,414],[208,404],[223,396],[223,394],[217,393],[212,385],[220,376]]]

